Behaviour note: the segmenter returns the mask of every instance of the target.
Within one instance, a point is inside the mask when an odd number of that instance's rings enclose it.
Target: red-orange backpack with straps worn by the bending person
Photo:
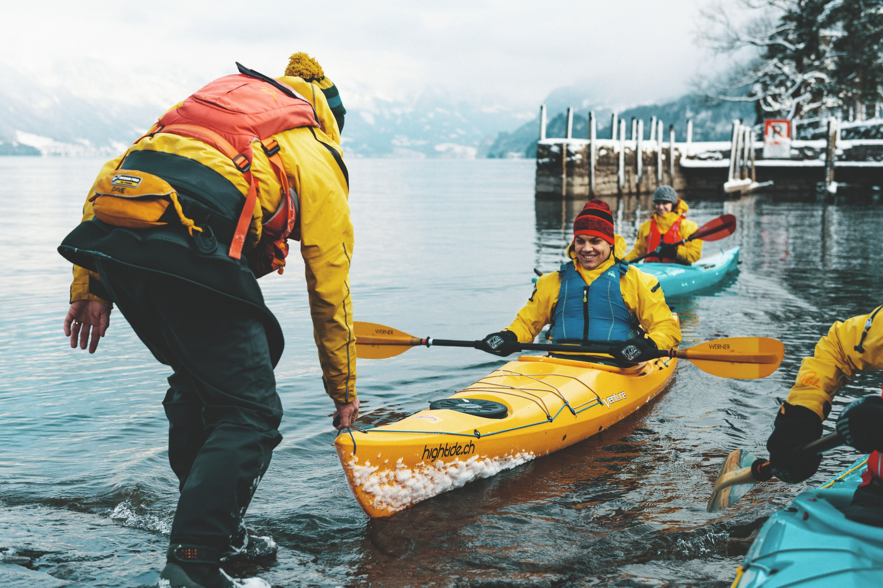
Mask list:
[[[260,141],[282,186],[279,208],[263,224],[260,242],[249,253],[249,265],[260,277],[275,270],[282,272],[288,256],[287,240],[295,232],[297,221],[293,200],[297,195],[292,197],[288,175],[279,157],[279,144],[272,137],[283,130],[319,127],[319,122],[313,105],[290,87],[239,63],[237,67],[241,73],[209,82],[181,106],[162,115],[145,137],[170,133],[195,138],[224,153],[242,172],[249,190],[230,242],[229,256],[234,259],[242,256],[257,200],[258,181],[251,167],[253,142]]]

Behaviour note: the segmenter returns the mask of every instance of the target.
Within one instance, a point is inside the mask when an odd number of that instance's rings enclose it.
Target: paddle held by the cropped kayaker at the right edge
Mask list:
[[[808,454],[818,455],[840,447],[843,443],[846,443],[846,440],[839,433],[825,435],[812,443],[796,448],[792,451],[791,458],[799,459]],[[773,468],[768,461],[758,464],[757,468],[752,468],[754,461],[754,456],[746,450],[735,450],[727,456],[721,465],[717,480],[714,480],[712,497],[708,499],[706,505],[708,512],[726,509],[746,495],[756,483],[773,478]]]

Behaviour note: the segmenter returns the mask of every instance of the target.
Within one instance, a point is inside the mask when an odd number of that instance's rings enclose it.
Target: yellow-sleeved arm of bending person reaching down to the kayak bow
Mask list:
[[[336,403],[350,403],[356,399],[356,337],[349,278],[353,229],[346,178],[311,130],[286,130],[275,138],[291,174],[291,188],[298,195],[300,252],[325,389]]]

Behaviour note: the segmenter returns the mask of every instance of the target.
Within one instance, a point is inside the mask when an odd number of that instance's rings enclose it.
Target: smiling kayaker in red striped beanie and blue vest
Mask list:
[[[585,203],[573,222],[573,236],[567,249],[571,261],[558,272],[540,276],[515,321],[483,339],[483,349],[509,355],[517,351],[518,342],[532,342],[547,324],[547,339],[554,343],[621,342],[613,354],[617,361],[646,361],[655,358],[658,349],[677,346],[681,330],[659,282],[619,258],[625,240],[613,232],[607,203]],[[563,357],[588,359],[585,355]]]

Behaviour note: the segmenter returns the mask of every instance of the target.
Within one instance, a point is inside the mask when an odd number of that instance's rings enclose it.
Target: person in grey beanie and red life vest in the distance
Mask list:
[[[650,220],[645,221],[638,229],[635,247],[624,257],[631,261],[648,251],[657,255],[644,258],[646,262],[663,262],[666,264],[692,264],[702,257],[702,241],[694,239],[683,245],[683,241],[696,232],[698,225],[684,216],[690,210],[671,186],[660,186],[653,192],[653,208],[656,212]],[[658,251],[656,249],[659,249]]]

